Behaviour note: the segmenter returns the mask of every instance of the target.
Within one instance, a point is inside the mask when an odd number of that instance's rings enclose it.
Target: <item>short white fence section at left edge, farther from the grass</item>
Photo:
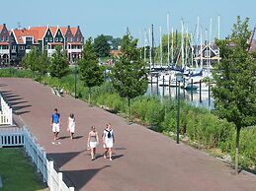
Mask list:
[[[0,102],[0,125],[13,125],[13,109],[8,105],[2,95],[0,95]]]

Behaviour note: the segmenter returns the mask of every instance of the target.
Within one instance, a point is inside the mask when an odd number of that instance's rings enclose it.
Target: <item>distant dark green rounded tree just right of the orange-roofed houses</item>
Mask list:
[[[98,35],[94,39],[93,46],[98,57],[107,57],[110,55],[111,45],[106,35]]]

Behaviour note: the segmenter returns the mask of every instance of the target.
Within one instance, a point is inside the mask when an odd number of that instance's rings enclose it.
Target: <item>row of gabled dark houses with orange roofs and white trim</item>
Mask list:
[[[77,28],[68,27],[32,27],[10,32],[10,56],[12,60],[20,62],[32,47],[46,51],[50,57],[56,46],[61,46],[72,63],[80,58],[84,44],[84,36]]]

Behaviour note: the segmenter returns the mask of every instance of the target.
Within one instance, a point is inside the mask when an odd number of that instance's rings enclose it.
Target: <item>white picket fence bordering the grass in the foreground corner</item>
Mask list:
[[[43,148],[27,128],[1,128],[0,138],[0,147],[24,146],[51,191],[74,191],[74,187],[68,187],[63,181],[62,172],[56,172],[53,161],[46,159]]]

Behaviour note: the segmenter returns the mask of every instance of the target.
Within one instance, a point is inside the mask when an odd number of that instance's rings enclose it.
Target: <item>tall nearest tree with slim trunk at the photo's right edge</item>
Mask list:
[[[238,171],[239,138],[241,128],[256,121],[256,60],[248,52],[249,19],[237,17],[232,33],[217,41],[221,61],[214,66],[213,88],[215,112],[236,127],[235,170]]]

